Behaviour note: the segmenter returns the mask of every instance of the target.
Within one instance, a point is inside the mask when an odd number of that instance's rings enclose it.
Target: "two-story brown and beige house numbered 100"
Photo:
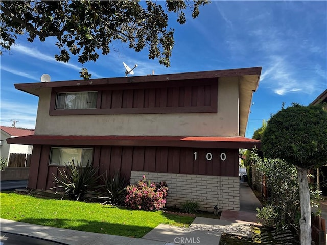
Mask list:
[[[39,97],[28,187],[49,190],[69,159],[100,174],[166,181],[167,205],[239,210],[239,149],[261,67],[15,84]]]

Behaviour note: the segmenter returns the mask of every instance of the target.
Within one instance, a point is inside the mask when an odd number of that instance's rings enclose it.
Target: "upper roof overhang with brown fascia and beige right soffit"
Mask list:
[[[132,76],[132,77],[117,77],[117,78],[99,78],[71,81],[57,81],[47,83],[19,83],[15,84],[15,88],[35,96],[39,96],[44,89],[57,87],[93,87],[106,86],[112,84],[132,84],[132,83],[162,83],[166,81],[178,81],[189,79],[207,79],[207,78],[223,78],[223,77],[238,77],[239,80],[239,135],[245,136],[248,115],[252,101],[253,92],[258,89],[259,79],[262,67],[251,67],[229,70],[213,70],[188,72],[179,74],[164,74],[151,76]]]

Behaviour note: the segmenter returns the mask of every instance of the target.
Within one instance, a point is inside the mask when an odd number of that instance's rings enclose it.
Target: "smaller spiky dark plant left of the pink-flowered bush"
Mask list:
[[[107,200],[105,203],[124,204],[126,195],[125,188],[129,184],[129,179],[126,180],[125,176],[121,175],[120,171],[115,171],[111,178],[106,175],[102,180],[104,182],[103,190],[105,196],[99,198]]]

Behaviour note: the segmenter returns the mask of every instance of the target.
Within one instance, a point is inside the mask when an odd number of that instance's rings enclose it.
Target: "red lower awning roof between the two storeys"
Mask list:
[[[188,137],[188,136],[75,136],[30,135],[7,139],[9,144],[42,145],[117,145],[170,146],[193,148],[260,148],[261,141],[244,137]]]

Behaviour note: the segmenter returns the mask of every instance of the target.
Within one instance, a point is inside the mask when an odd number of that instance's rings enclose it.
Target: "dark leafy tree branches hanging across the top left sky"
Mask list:
[[[115,40],[128,43],[135,51],[148,48],[149,59],[170,65],[174,46],[174,29],[168,27],[168,13],[177,14],[184,24],[184,11],[199,15],[199,7],[208,0],[181,1],[1,1],[1,48],[10,50],[21,35],[29,42],[35,38],[57,39],[57,61],[68,62],[77,55],[82,64],[96,61],[98,52],[107,55]],[[162,6],[164,5],[164,6]],[[84,69],[81,77],[90,75]]]

